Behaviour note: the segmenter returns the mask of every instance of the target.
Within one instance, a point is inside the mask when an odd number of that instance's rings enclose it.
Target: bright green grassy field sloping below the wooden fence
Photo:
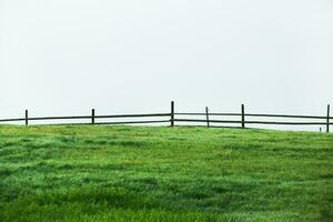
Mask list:
[[[332,221],[333,134],[0,125],[0,221]]]

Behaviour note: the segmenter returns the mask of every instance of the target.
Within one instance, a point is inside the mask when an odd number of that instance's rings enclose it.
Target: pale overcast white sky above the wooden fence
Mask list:
[[[0,119],[325,114],[332,0],[0,0]]]

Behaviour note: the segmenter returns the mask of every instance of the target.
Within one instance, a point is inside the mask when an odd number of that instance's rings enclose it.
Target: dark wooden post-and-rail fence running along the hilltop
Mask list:
[[[330,104],[327,105],[327,114],[325,117],[320,115],[291,115],[291,114],[254,114],[245,113],[244,104],[241,105],[240,113],[210,113],[209,108],[205,108],[205,112],[175,112],[174,102],[171,102],[171,110],[168,113],[148,113],[148,114],[113,114],[113,115],[97,115],[95,110],[91,110],[91,115],[74,115],[74,117],[43,117],[43,118],[30,118],[28,110],[26,110],[24,118],[19,119],[0,119],[0,123],[8,122],[20,122],[23,121],[26,125],[30,121],[41,121],[41,120],[90,120],[89,123],[61,123],[61,124],[145,124],[145,123],[170,123],[171,127],[175,127],[176,122],[179,123],[203,123],[208,128],[216,128],[223,125],[219,124],[236,124],[238,128],[245,129],[246,125],[251,124],[265,124],[265,125],[322,125],[326,128],[326,132],[330,132],[330,125],[333,122],[330,120],[333,117],[330,117]],[[182,118],[182,117],[204,117],[204,119],[192,119],[192,118]],[[212,117],[238,117],[239,120],[212,120]],[[284,121],[251,121],[246,118],[278,118],[285,119]],[[103,119],[140,119],[140,118],[154,118],[154,120],[135,120],[135,121],[98,121]],[[155,118],[163,118],[163,120],[155,120]],[[306,119],[309,121],[286,121],[290,119]],[[58,123],[59,124],[59,123]],[[224,125],[225,127],[225,125]]]

